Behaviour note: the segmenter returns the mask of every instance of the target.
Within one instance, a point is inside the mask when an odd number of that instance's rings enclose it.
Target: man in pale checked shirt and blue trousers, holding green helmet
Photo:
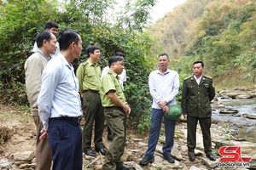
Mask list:
[[[153,98],[151,127],[148,137],[148,150],[146,151],[141,165],[148,165],[154,161],[154,150],[159,139],[160,127],[164,114],[168,113],[169,105],[176,105],[176,95],[179,88],[179,77],[177,71],[168,69],[170,64],[168,54],[158,56],[159,69],[152,71],[148,77],[148,86]],[[164,144],[163,157],[169,163],[175,160],[171,156],[174,144],[175,120],[170,120],[164,116],[166,143]]]

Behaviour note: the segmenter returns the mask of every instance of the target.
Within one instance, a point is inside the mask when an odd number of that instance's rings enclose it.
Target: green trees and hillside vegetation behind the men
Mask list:
[[[187,0],[148,26],[155,0],[134,0],[117,9],[113,0],[9,0],[0,5],[1,102],[27,106],[23,65],[32,54],[34,37],[53,20],[59,30],[78,30],[83,46],[101,48],[102,67],[114,52],[125,54],[125,95],[131,105],[131,127],[143,132],[150,121],[148,74],[156,56],[170,54],[180,85],[195,59],[206,63],[215,86],[247,86],[256,75],[256,2],[250,0]],[[113,13],[110,13],[112,11]],[[84,52],[73,62],[86,59]],[[177,100],[180,99],[179,92]]]

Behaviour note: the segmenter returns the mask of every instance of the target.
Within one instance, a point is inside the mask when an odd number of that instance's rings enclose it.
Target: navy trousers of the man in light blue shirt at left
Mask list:
[[[48,140],[53,170],[82,170],[82,130],[79,123],[50,119]]]

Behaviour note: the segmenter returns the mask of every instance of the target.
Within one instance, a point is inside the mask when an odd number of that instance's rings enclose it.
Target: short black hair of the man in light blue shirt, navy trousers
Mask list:
[[[78,44],[79,42],[79,31],[72,29],[61,30],[58,37],[60,44],[60,50],[66,50],[72,42]]]

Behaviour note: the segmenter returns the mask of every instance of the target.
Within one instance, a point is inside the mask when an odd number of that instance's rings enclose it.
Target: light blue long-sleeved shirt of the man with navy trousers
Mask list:
[[[42,88],[38,96],[38,111],[44,129],[48,129],[49,118],[82,116],[79,96],[79,81],[73,66],[62,54],[51,59],[44,68]]]

